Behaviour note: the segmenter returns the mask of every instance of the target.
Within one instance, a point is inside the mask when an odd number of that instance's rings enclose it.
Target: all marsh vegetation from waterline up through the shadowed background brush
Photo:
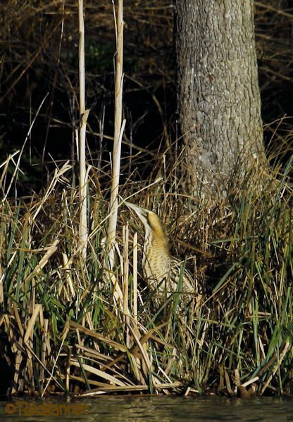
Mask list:
[[[293,110],[281,91],[282,84],[292,84],[287,38],[292,15],[277,3],[256,4],[270,168],[265,178],[247,172],[206,212],[203,200],[180,188],[185,162],[174,114],[172,7],[166,0],[135,6],[125,1],[128,123],[113,267],[105,241],[111,215],[112,6],[87,5],[92,110],[85,255],[75,152],[77,6],[28,1],[21,13],[16,6],[0,6],[6,75],[0,167],[2,394],[292,395],[293,129],[284,110],[292,115]],[[274,44],[268,42],[268,27]],[[20,51],[25,53],[19,58]],[[256,188],[260,177],[261,189]],[[123,200],[154,210],[165,222],[173,255],[204,286],[199,311],[180,309],[180,290],[161,307],[154,305],[141,276],[142,227]]]

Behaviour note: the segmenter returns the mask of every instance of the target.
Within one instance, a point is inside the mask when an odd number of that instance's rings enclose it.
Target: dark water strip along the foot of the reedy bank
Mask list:
[[[66,416],[67,412],[67,416]],[[70,415],[68,415],[70,414]],[[292,421],[293,399],[219,397],[94,397],[0,402],[0,421]]]

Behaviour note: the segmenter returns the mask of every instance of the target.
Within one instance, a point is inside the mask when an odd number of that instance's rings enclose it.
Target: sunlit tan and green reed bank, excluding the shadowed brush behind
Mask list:
[[[169,232],[185,244],[199,239],[195,246],[206,251],[197,252],[195,272],[206,289],[197,315],[178,312],[176,300],[154,308],[139,277],[135,223],[123,205],[116,264],[104,267],[107,205],[91,172],[85,262],[68,163],[42,197],[1,202],[1,362],[12,369],[8,390],[292,394],[291,167],[292,159],[280,182],[268,179],[260,193],[242,186],[210,215],[179,195],[169,183],[175,174],[158,179],[160,168],[151,174],[156,184],[146,183],[139,203],[161,204],[164,221],[177,216]],[[123,197],[135,189],[128,184]]]

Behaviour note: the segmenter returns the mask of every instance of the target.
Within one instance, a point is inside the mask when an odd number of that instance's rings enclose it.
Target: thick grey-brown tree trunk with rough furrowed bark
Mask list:
[[[266,162],[251,0],[175,0],[178,106],[192,191],[227,194]]]

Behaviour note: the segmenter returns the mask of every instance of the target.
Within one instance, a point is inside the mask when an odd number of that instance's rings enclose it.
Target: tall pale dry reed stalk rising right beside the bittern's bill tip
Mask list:
[[[122,96],[123,96],[123,0],[118,0],[117,19],[114,8],[114,18],[116,22],[116,74],[115,74],[115,123],[114,123],[114,145],[113,145],[113,168],[111,197],[109,204],[108,220],[108,248],[109,266],[113,269],[114,264],[114,243],[116,238],[116,226],[118,217],[118,192],[120,179],[120,154],[125,120],[122,124]]]

